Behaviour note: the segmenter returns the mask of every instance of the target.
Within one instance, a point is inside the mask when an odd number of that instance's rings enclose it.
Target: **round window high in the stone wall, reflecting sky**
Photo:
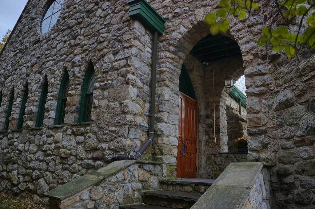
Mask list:
[[[53,0],[49,3],[40,20],[39,29],[41,33],[48,32],[54,26],[61,12],[62,5],[63,0]]]

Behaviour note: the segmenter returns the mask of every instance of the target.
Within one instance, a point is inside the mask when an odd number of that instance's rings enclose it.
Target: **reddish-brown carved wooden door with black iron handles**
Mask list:
[[[197,177],[197,101],[179,92],[177,178]]]

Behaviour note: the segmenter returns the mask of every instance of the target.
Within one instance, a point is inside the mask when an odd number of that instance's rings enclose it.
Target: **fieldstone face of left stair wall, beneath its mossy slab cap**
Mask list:
[[[106,167],[102,172],[106,172]],[[116,170],[115,174],[92,186],[78,189],[74,195],[66,199],[58,201],[51,197],[48,207],[50,209],[119,208],[119,205],[139,204],[143,201],[141,192],[159,190],[159,180],[165,176],[165,165],[135,162],[127,168]],[[67,189],[66,186],[64,185],[64,190]]]

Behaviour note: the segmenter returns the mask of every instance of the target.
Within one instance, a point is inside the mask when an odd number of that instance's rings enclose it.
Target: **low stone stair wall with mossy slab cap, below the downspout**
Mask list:
[[[160,189],[159,180],[165,176],[163,164],[115,161],[45,195],[50,209],[117,208],[141,202],[141,191]]]

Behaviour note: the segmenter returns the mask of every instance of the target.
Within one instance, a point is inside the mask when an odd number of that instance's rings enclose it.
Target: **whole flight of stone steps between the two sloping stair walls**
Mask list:
[[[161,190],[144,191],[144,203],[121,205],[121,209],[189,209],[211,186],[214,179],[161,180]]]

